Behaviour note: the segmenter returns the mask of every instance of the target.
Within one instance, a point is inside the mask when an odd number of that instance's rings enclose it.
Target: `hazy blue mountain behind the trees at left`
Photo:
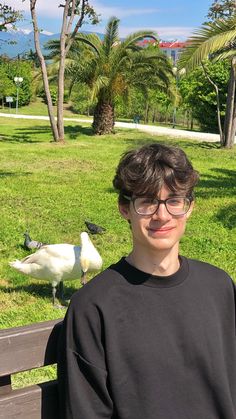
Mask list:
[[[85,32],[84,33],[90,33]],[[103,39],[104,35],[97,33]],[[43,53],[46,53],[44,45],[51,40],[59,39],[60,34],[40,33],[40,44]],[[8,55],[10,58],[17,58],[18,55],[22,56],[30,49],[35,51],[34,47],[34,33],[26,32],[24,30],[9,30],[8,32],[1,32],[0,34],[0,55]]]

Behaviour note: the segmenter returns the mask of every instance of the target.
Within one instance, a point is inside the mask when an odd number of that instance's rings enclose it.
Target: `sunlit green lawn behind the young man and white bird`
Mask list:
[[[21,259],[23,233],[48,243],[80,242],[84,221],[106,228],[92,240],[106,268],[129,252],[128,224],[117,211],[112,179],[120,155],[147,142],[182,147],[201,174],[196,205],[181,240],[181,253],[213,263],[236,280],[236,149],[214,143],[155,137],[135,130],[95,137],[90,126],[66,123],[66,144],[52,142],[46,121],[0,118],[0,327],[64,316],[51,304],[51,286],[17,273],[9,261]],[[92,275],[90,275],[91,278]],[[66,282],[70,298],[80,281]],[[45,373],[51,376],[51,370]],[[45,377],[42,374],[42,377]],[[36,380],[23,374],[19,382]]]

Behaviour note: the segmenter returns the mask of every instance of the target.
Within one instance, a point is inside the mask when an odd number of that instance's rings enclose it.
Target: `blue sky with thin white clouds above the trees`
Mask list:
[[[25,19],[18,25],[32,30],[29,0],[7,0],[6,3],[24,11]],[[59,33],[61,26],[62,0],[37,0],[36,11],[39,26],[49,33]],[[213,0],[91,0],[90,4],[100,14],[96,26],[83,25],[86,31],[104,33],[111,16],[120,19],[120,36],[125,37],[137,30],[157,32],[161,40],[186,40],[204,21]]]

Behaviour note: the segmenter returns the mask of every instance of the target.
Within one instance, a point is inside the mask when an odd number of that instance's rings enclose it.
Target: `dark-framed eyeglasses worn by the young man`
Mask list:
[[[134,210],[139,215],[155,214],[160,204],[164,204],[168,213],[171,215],[184,215],[188,212],[192,202],[192,198],[183,196],[173,196],[167,199],[153,199],[148,197],[130,197],[124,195],[124,198],[133,203]]]

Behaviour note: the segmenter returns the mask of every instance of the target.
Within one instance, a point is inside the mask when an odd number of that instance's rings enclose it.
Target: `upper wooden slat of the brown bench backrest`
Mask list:
[[[56,363],[61,320],[0,330],[0,377]]]

